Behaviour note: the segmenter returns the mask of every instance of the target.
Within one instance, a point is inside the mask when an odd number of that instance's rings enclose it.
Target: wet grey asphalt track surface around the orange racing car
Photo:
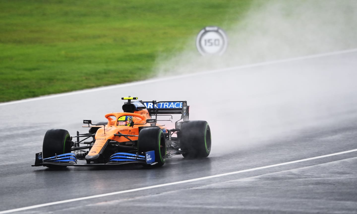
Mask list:
[[[356,149],[356,67],[351,52],[0,105],[0,211]],[[187,100],[211,125],[211,155],[156,169],[30,166],[47,129],[85,132],[82,119],[121,111],[128,95]],[[17,213],[357,213],[356,164],[350,152]]]

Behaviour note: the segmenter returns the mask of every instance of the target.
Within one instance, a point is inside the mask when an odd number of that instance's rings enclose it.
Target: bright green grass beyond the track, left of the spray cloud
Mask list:
[[[205,26],[250,0],[0,0],[0,102],[154,75]]]

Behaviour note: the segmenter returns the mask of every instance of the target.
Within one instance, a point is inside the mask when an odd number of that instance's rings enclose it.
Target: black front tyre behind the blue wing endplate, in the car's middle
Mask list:
[[[142,129],[139,132],[138,152],[155,151],[155,165],[146,165],[148,167],[156,167],[164,165],[166,161],[166,143],[164,132],[159,127],[150,127]]]

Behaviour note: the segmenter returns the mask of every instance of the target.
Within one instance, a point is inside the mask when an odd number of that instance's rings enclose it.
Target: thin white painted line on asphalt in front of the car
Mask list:
[[[305,158],[305,159],[301,159],[301,160],[297,160],[297,161],[290,161],[290,162],[285,162],[285,163],[278,163],[278,164],[273,164],[273,165],[269,165],[269,166],[262,166],[262,167],[252,168],[252,169],[244,169],[244,170],[240,170],[240,171],[228,172],[228,173],[223,173],[223,174],[216,174],[216,175],[212,175],[212,176],[206,176],[206,177],[201,177],[201,178],[189,179],[189,180],[185,180],[185,181],[177,181],[177,182],[171,182],[171,183],[164,183],[164,184],[158,184],[158,185],[149,186],[149,187],[141,187],[141,188],[136,188],[136,189],[128,189],[128,190],[123,190],[123,191],[119,191],[119,192],[111,192],[111,193],[105,193],[105,194],[100,194],[100,195],[91,195],[91,196],[82,197],[82,198],[74,198],[74,199],[68,199],[68,200],[61,200],[61,201],[50,202],[50,203],[45,203],[45,204],[37,204],[37,205],[29,206],[29,207],[21,207],[21,208],[16,208],[16,209],[4,210],[4,211],[1,211],[0,214],[12,213],[12,212],[23,211],[23,210],[28,210],[28,209],[35,209],[35,208],[39,208],[39,207],[47,207],[47,206],[51,206],[51,205],[63,204],[63,203],[68,203],[68,202],[75,202],[75,201],[79,201],[79,200],[86,200],[86,199],[92,199],[92,198],[100,198],[100,197],[105,197],[105,196],[109,196],[109,195],[117,195],[117,194],[128,193],[128,192],[136,192],[136,191],[140,191],[140,190],[153,189],[153,188],[157,188],[157,187],[171,186],[171,185],[175,185],[175,184],[181,184],[181,183],[188,183],[188,182],[200,181],[200,180],[209,179],[209,178],[217,178],[217,177],[227,176],[227,175],[231,175],[231,174],[238,174],[238,173],[242,173],[242,172],[250,172],[250,171],[255,171],[255,170],[259,170],[259,169],[266,169],[266,168],[271,168],[271,167],[276,167],[276,166],[283,166],[283,165],[287,165],[287,164],[291,164],[291,163],[298,163],[298,162],[303,162],[303,161],[310,161],[310,160],[314,160],[314,159],[318,159],[318,158],[330,157],[330,156],[335,156],[335,155],[341,155],[341,154],[350,153],[350,152],[356,152],[356,151],[357,151],[357,149],[353,149],[353,150],[348,150],[348,151],[343,151],[343,152],[337,152],[337,153],[333,153],[333,154],[329,154],[329,155],[322,155],[322,156],[317,156],[317,157],[310,157],[310,158]]]

